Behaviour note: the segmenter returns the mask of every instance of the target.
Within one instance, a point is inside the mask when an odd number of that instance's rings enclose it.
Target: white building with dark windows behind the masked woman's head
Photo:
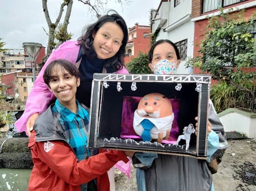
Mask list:
[[[157,40],[169,39],[179,49],[181,64],[177,73],[191,73],[186,69],[188,57],[193,56],[194,24],[191,22],[191,0],[161,0],[153,12],[152,32],[158,32]]]

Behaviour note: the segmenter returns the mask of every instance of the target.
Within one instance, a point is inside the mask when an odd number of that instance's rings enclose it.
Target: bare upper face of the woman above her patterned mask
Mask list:
[[[148,64],[148,67],[151,69],[151,71],[153,71],[153,66],[156,65],[156,63],[158,63],[160,60],[168,60],[177,63],[176,69],[178,69],[178,66],[181,62],[177,59],[174,47],[168,42],[158,44],[153,50],[152,61],[150,64]]]

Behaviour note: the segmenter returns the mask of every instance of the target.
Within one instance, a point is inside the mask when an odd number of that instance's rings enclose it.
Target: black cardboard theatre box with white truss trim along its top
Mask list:
[[[210,83],[210,75],[95,73],[90,103],[88,147],[205,159]],[[157,119],[159,115],[152,117],[158,123],[170,126],[170,136],[166,136],[161,143],[154,139],[145,139],[145,135],[150,136],[151,130],[155,127],[157,130],[158,125],[153,122],[150,130],[145,127],[144,122],[135,122],[140,100],[144,101],[144,106],[147,105],[148,96],[144,96],[150,93],[161,93],[172,107],[173,117],[170,123],[166,123],[166,118]],[[154,99],[156,101],[153,104],[156,104],[162,97],[155,96]],[[149,121],[152,118],[149,117]],[[136,125],[143,128],[142,134],[136,131]],[[164,133],[165,131],[166,129]]]

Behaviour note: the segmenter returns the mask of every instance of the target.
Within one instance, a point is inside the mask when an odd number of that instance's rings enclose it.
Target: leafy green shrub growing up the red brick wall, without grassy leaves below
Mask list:
[[[198,51],[201,54],[190,59],[186,63],[187,67],[199,66],[218,81],[236,83],[236,79],[243,79],[245,83],[252,82],[256,78],[255,73],[246,76],[242,70],[236,72],[237,68],[256,66],[256,45],[251,34],[256,25],[256,17],[252,14],[245,20],[244,12],[241,10],[229,15],[221,10],[220,17],[208,19],[209,24],[206,33],[202,35],[204,38]]]

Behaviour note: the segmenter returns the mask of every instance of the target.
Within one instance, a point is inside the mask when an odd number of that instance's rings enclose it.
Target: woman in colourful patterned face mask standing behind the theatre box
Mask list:
[[[158,40],[149,51],[148,66],[155,74],[175,74],[180,64],[178,48],[169,40]],[[207,160],[152,153],[135,153],[133,165],[138,167],[138,191],[213,191],[210,168],[216,170],[227,143],[223,126],[212,104],[209,105]],[[197,118],[196,118],[197,120]],[[197,124],[196,124],[197,126]],[[213,131],[212,131],[213,130]],[[164,137],[167,138],[167,137]],[[163,140],[159,137],[158,140]],[[208,167],[209,163],[211,167]]]

